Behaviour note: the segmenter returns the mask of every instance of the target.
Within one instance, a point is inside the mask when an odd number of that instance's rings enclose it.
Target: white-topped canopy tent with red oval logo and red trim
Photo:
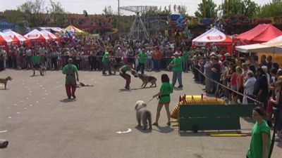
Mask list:
[[[192,46],[225,46],[229,53],[232,52],[233,39],[216,28],[209,29],[199,37],[192,40]]]

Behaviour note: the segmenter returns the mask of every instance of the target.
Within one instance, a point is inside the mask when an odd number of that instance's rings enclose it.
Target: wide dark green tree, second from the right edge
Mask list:
[[[259,6],[252,0],[224,0],[220,9],[223,18],[237,14],[252,18],[257,14],[257,11],[259,11]]]

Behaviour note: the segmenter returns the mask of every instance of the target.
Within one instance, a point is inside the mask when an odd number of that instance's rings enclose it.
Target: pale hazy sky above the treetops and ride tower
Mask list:
[[[86,10],[88,14],[102,13],[104,6],[112,6],[114,11],[117,11],[118,0],[54,0],[60,1],[63,8],[70,13],[82,13]],[[221,4],[223,0],[215,0],[216,4]],[[253,0],[259,5],[266,4],[271,0]],[[17,6],[23,4],[25,0],[0,0],[0,11],[5,11],[7,9],[16,9]],[[189,15],[194,15],[197,11],[197,4],[200,4],[201,0],[120,0],[120,6],[168,6],[171,4],[185,5],[188,7]],[[49,0],[45,2],[49,4]],[[128,12],[124,12],[128,14]]]

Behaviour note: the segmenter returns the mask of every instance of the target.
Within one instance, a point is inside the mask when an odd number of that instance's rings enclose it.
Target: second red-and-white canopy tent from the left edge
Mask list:
[[[11,37],[11,39],[13,39],[12,44],[17,44],[18,46],[22,44],[26,44],[27,46],[30,46],[30,39],[23,37],[17,32],[13,32],[11,29],[5,29],[3,33],[7,34],[9,37]]]

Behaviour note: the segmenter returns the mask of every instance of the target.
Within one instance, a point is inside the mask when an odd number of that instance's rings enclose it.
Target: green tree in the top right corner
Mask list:
[[[262,6],[257,16],[259,17],[274,17],[282,15],[282,2],[276,1]]]

